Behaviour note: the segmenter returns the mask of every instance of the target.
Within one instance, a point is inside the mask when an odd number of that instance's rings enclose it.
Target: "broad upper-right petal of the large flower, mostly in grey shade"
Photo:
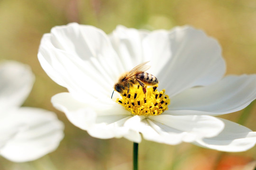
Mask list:
[[[225,73],[219,43],[201,30],[176,27],[157,30],[145,37],[144,54],[152,60],[152,74],[159,88],[174,96],[197,85],[210,85]]]

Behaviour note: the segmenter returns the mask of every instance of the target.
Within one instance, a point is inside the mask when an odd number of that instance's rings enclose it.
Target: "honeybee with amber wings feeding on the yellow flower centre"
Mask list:
[[[129,72],[124,73],[119,77],[118,83],[114,85],[114,90],[119,93],[123,93],[125,89],[128,89],[137,83],[142,86],[143,93],[146,93],[146,85],[156,85],[158,80],[155,76],[146,73],[145,71],[150,68],[150,66],[145,65],[149,61],[137,65],[132,68]]]

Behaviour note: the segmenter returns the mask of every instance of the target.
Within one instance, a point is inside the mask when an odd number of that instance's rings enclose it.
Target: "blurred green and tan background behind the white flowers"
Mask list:
[[[55,111],[65,124],[64,140],[55,152],[26,163],[0,157],[0,170],[132,169],[132,142],[93,138],[52,107],[51,96],[66,89],[43,71],[37,50],[43,34],[70,22],[106,33],[117,25],[149,30],[191,25],[219,41],[227,74],[256,73],[256,0],[0,0],[0,61],[26,63],[36,75],[23,105]],[[222,117],[256,131],[255,102]],[[139,144],[140,170],[242,170],[254,160],[256,147],[222,153],[186,143],[172,146],[143,140]]]

